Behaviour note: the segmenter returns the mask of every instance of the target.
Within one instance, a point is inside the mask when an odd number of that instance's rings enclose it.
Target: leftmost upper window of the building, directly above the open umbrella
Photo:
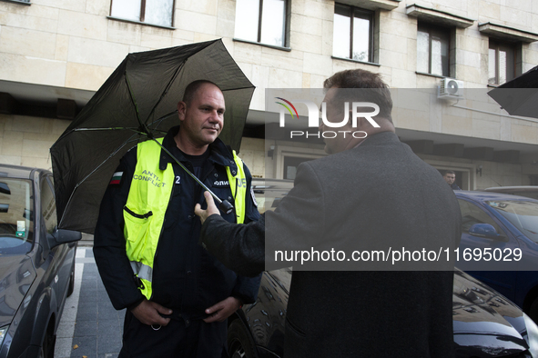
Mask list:
[[[110,15],[150,25],[172,26],[174,0],[112,0]]]

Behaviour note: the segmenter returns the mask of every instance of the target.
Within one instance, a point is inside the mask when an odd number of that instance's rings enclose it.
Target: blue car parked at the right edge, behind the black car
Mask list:
[[[468,273],[502,293],[538,322],[538,201],[512,194],[455,191],[462,210],[462,242],[466,248],[485,248],[504,255],[490,261],[499,271],[479,269]],[[483,228],[487,228],[484,233]],[[500,255],[497,257],[501,258]],[[513,261],[505,262],[504,258]],[[461,267],[462,268],[462,267]]]

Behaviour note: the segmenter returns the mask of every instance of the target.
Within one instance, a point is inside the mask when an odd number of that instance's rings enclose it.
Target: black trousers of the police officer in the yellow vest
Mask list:
[[[155,327],[158,328],[158,327]],[[127,310],[119,358],[223,358],[228,323],[171,319],[157,331]]]

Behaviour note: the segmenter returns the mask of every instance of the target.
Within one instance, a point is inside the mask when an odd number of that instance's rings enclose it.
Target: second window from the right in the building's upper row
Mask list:
[[[417,33],[417,72],[449,75],[450,32],[442,27],[419,23]]]

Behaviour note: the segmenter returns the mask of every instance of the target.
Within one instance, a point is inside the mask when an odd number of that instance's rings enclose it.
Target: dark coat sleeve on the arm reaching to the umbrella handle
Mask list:
[[[302,250],[305,244],[320,244],[326,230],[323,203],[320,181],[310,164],[303,163],[295,187],[275,212],[262,214],[258,222],[249,224],[229,224],[219,215],[211,215],[202,225],[200,240],[222,264],[239,274],[288,267],[288,262],[275,261],[275,250]]]

